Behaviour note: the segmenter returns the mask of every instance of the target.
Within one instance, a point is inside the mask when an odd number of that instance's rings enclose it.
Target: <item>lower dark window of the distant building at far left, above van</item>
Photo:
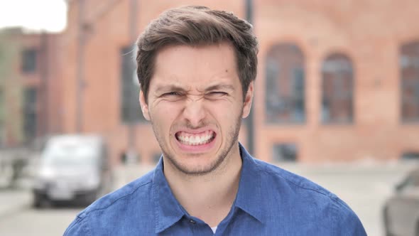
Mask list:
[[[36,136],[37,123],[37,91],[27,88],[23,95],[23,134],[26,141],[31,141]]]

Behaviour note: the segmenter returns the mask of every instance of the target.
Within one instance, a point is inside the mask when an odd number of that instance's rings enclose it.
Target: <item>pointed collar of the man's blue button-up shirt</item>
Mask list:
[[[244,149],[244,146],[239,144],[239,149],[242,166],[239,191],[236,195],[234,207],[244,210],[259,222],[264,222],[263,209],[261,208],[263,198],[259,168],[253,157]],[[158,234],[186,215],[185,210],[170,190],[168,181],[164,176],[163,158],[160,158],[154,170],[152,194],[156,217],[156,234]]]

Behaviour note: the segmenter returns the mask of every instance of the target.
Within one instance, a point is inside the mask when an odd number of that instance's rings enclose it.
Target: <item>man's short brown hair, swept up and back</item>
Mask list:
[[[146,102],[158,50],[168,45],[230,43],[235,50],[243,97],[256,78],[258,41],[252,26],[234,14],[205,6],[169,9],[148,24],[136,43],[137,75]]]

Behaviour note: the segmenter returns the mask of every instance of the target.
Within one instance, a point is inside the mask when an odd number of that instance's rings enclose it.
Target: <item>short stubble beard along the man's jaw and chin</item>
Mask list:
[[[190,168],[190,167],[187,166],[187,164],[184,165],[183,163],[180,163],[180,161],[178,161],[178,159],[176,159],[175,155],[171,154],[168,151],[168,149],[165,146],[165,143],[163,141],[164,140],[163,137],[160,137],[158,135],[158,132],[156,132],[156,129],[155,129],[156,126],[155,126],[155,124],[153,124],[153,121],[151,121],[151,124],[152,124],[152,127],[153,127],[154,135],[156,136],[156,139],[158,141],[158,144],[160,146],[161,151],[163,152],[163,156],[165,157],[165,159],[170,161],[170,163],[173,166],[175,166],[175,168],[178,171],[180,171],[181,173],[184,173],[187,176],[204,176],[208,173],[213,172],[219,166],[221,166],[221,164],[224,163],[224,161],[226,161],[226,158],[231,153],[231,151],[234,147],[234,144],[237,144],[237,141],[239,140],[239,132],[240,132],[240,127],[241,127],[241,114],[240,114],[239,117],[236,118],[236,126],[234,127],[234,129],[231,129],[227,134],[227,139],[226,139],[226,142],[225,142],[225,144],[227,146],[225,146],[224,148],[221,147],[223,150],[221,150],[221,152],[218,154],[217,158],[214,161],[212,161],[208,165],[202,166],[200,168]],[[197,157],[197,158],[199,158],[199,157]]]

